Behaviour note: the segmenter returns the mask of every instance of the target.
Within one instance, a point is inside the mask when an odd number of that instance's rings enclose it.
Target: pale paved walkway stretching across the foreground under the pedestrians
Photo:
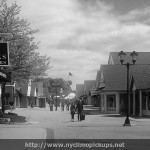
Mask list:
[[[24,124],[0,124],[0,139],[150,139],[150,120],[131,119],[131,127],[124,127],[125,118],[86,115],[86,120],[71,122],[68,111],[49,111],[49,108],[13,110],[26,116]]]

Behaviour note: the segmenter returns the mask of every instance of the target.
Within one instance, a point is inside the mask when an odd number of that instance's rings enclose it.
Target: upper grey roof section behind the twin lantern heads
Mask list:
[[[132,59],[130,57],[131,52],[125,52],[126,58],[124,63],[132,63]],[[150,64],[150,52],[137,52],[138,58],[136,64]],[[120,64],[120,60],[118,57],[119,52],[110,52],[108,64]]]

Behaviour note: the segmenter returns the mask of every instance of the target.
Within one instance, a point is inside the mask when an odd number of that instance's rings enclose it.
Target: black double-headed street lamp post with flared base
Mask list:
[[[124,53],[123,51],[121,51],[119,54],[119,59],[122,65],[125,65],[127,67],[127,106],[126,106],[126,119],[125,119],[125,123],[124,126],[131,126],[130,124],[130,120],[129,120],[129,98],[130,98],[130,93],[129,93],[129,69],[131,65],[134,65],[136,62],[136,59],[138,57],[138,54],[133,51],[130,56],[132,57],[132,62],[133,64],[130,64],[129,62],[127,62],[126,64],[123,64],[125,57],[126,57],[126,53]]]

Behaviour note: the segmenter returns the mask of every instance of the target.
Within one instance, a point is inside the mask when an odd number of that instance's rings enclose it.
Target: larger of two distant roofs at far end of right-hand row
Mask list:
[[[95,87],[95,80],[85,80],[84,81],[84,92],[85,94],[89,94],[89,91]]]

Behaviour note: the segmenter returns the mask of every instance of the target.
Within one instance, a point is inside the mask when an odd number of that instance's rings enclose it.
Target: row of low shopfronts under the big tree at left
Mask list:
[[[32,82],[25,80],[22,86],[18,83],[7,83],[5,86],[4,97],[5,110],[10,109],[13,104],[13,109],[28,108],[28,107],[46,107],[46,97],[43,96],[43,82]],[[2,102],[1,102],[2,103]]]

